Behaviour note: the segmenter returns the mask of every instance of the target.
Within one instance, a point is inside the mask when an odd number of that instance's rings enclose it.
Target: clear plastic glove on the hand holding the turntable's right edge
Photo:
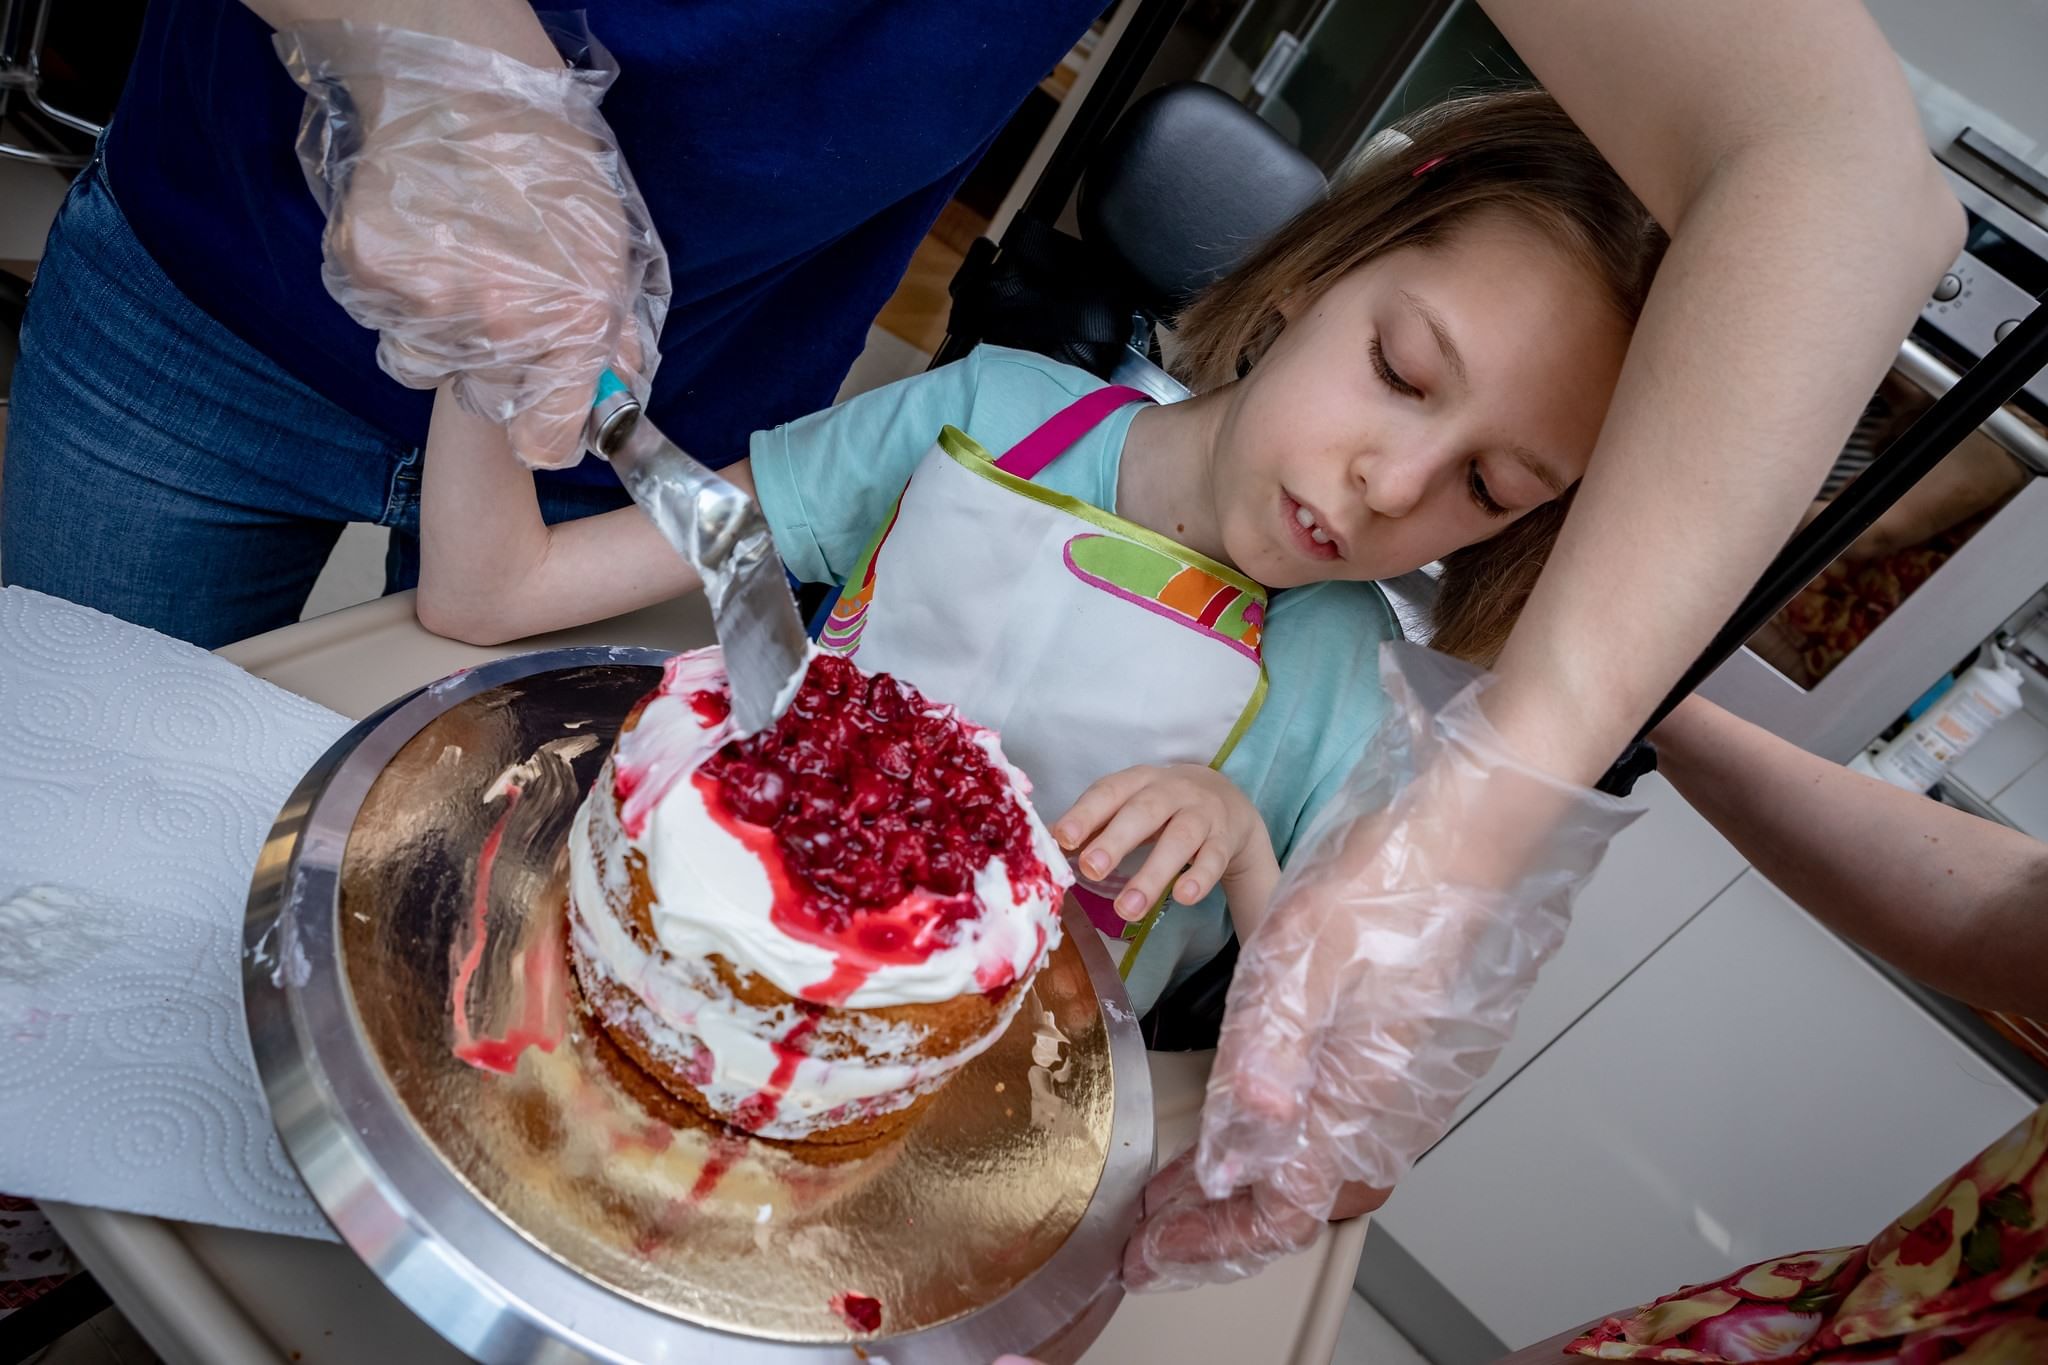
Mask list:
[[[1133,1287],[1249,1275],[1374,1207],[1507,1044],[1638,814],[1518,759],[1481,669],[1384,645],[1380,681],[1386,720],[1237,962],[1198,1158],[1147,1191]]]

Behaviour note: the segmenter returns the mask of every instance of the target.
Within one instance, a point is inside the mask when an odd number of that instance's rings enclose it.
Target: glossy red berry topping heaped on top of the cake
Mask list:
[[[1001,857],[1051,874],[1004,774],[950,712],[889,673],[819,655],[788,712],[723,745],[692,780],[713,817],[768,870],[770,911],[838,970],[801,995],[840,1005],[879,966],[924,962],[979,915],[975,874]],[[999,990],[1012,974],[983,974]]]

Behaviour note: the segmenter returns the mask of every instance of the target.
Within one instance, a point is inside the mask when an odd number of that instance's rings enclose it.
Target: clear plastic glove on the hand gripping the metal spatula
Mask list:
[[[328,213],[328,293],[379,334],[387,375],[453,381],[532,467],[582,458],[606,366],[647,393],[670,295],[598,113],[616,68],[580,41],[580,68],[543,70],[379,25],[276,35],[305,88],[299,162]]]

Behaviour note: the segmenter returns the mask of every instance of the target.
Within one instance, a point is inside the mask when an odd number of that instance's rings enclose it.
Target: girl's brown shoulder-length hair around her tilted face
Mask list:
[[[1368,260],[1442,244],[1487,211],[1546,233],[1634,325],[1665,235],[1556,100],[1542,90],[1497,90],[1446,100],[1397,127],[1407,145],[1376,145],[1182,311],[1174,323],[1174,372],[1182,383],[1204,391],[1247,375],[1286,325],[1282,299],[1313,303]],[[1444,557],[1430,641],[1436,649],[1493,663],[1569,503],[1567,491]]]

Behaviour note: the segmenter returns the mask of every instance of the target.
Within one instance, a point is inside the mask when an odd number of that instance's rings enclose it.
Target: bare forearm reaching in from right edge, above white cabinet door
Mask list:
[[[1704,698],[1655,741],[1679,794],[1815,919],[1958,999],[2048,1015],[2048,845]]]

